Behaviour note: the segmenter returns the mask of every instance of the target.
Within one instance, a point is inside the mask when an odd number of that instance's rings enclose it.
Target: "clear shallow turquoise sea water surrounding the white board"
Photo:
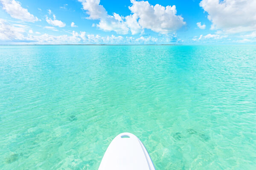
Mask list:
[[[157,170],[256,167],[256,46],[0,46],[0,169],[96,170],[131,132]]]

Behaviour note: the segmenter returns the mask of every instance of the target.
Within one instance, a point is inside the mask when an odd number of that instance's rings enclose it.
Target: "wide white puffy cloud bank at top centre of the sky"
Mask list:
[[[118,34],[138,34],[143,29],[168,34],[176,31],[186,23],[183,17],[177,15],[176,6],[152,6],[148,1],[131,0],[130,15],[123,17],[113,13],[109,15],[106,9],[100,5],[100,0],[79,0],[83,9],[87,12],[88,19],[99,20],[97,27],[104,31],[116,31]]]

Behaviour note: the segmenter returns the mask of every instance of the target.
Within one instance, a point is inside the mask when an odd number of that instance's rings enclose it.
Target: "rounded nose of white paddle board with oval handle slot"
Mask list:
[[[132,133],[121,133],[109,144],[99,170],[155,170],[155,168],[140,139]]]

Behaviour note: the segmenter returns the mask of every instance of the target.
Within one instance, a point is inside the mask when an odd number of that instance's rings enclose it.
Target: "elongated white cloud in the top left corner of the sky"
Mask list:
[[[38,18],[30,14],[26,8],[23,8],[20,2],[15,0],[0,0],[0,2],[3,5],[3,9],[10,14],[11,17],[32,23],[38,21]]]

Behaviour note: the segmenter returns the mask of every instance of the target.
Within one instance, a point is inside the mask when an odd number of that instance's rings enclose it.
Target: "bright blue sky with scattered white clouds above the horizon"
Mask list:
[[[256,44],[256,0],[0,0],[0,44]]]

